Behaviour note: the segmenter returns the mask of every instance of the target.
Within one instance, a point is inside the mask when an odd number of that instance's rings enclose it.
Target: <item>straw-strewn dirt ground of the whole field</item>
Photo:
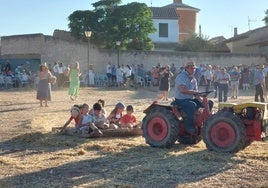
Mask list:
[[[252,94],[241,92],[232,102],[252,101]],[[73,104],[92,106],[100,98],[107,112],[118,101],[132,104],[141,121],[156,96],[157,88],[81,88],[73,102],[65,88],[41,108],[35,90],[0,91],[0,187],[268,187],[267,142],[222,154],[202,141],[160,149],[141,136],[85,139],[51,131],[65,123]]]

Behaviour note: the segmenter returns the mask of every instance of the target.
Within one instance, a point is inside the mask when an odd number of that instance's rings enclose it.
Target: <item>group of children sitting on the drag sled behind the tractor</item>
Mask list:
[[[93,104],[92,109],[87,103],[72,106],[70,118],[61,128],[61,132],[64,132],[72,121],[75,122],[75,133],[88,136],[93,134],[101,136],[102,131],[106,129],[139,127],[132,105],[128,105],[125,112],[125,105],[118,102],[109,115],[104,110],[104,105],[105,101],[99,99]]]

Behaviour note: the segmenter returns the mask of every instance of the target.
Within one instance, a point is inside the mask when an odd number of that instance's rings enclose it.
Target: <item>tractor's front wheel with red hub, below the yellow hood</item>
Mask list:
[[[205,122],[202,136],[207,148],[217,152],[237,152],[246,145],[243,121],[230,112],[212,115]]]

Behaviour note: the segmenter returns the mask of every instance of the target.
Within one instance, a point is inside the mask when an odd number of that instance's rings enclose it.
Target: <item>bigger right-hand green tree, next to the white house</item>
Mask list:
[[[149,34],[155,32],[152,12],[144,3],[130,3],[117,7],[107,19],[109,44],[121,41],[126,49],[152,50]]]

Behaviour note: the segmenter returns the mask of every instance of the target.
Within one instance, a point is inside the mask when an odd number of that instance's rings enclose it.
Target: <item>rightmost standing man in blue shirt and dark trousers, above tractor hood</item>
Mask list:
[[[254,74],[254,86],[255,86],[255,101],[259,101],[259,96],[260,96],[260,101],[264,102],[264,90],[265,90],[265,74],[264,74],[264,66],[259,65],[257,67],[257,70],[255,71]]]

